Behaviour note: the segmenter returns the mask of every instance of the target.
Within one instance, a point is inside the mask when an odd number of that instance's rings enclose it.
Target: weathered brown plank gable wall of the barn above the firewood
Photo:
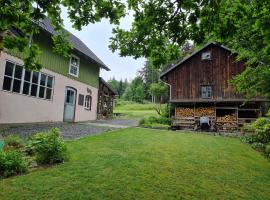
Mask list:
[[[201,60],[202,52],[211,52],[211,60]],[[166,75],[172,100],[200,100],[202,85],[212,86],[212,100],[244,99],[228,82],[244,68],[230,51],[210,45]]]

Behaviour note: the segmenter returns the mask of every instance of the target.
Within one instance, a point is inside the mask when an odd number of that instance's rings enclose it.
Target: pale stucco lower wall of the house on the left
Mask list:
[[[22,60],[0,51],[0,124],[63,121],[67,86],[77,90],[75,122],[96,119],[98,89],[46,69],[42,69],[42,72],[54,76],[51,101],[2,90],[6,60],[23,65]],[[92,91],[91,110],[78,105],[79,94],[87,95],[87,88]]]

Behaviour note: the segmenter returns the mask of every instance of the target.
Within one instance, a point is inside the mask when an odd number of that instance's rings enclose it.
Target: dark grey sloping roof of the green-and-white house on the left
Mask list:
[[[38,22],[38,26],[52,35],[56,34],[56,31],[54,30],[49,18],[45,18],[41,22]],[[99,64],[101,68],[110,71],[110,69],[78,37],[71,34],[70,32],[68,33],[69,41],[77,51]]]

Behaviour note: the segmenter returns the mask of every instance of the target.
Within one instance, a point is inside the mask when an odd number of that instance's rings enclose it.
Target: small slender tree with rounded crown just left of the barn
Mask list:
[[[156,98],[155,110],[159,115],[162,114],[162,99],[168,95],[168,87],[164,83],[153,83],[150,92]]]

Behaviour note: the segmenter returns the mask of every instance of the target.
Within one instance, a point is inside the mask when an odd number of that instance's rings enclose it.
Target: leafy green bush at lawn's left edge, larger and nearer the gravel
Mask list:
[[[66,145],[59,129],[56,128],[32,136],[26,150],[36,156],[38,164],[62,163],[68,159]]]

